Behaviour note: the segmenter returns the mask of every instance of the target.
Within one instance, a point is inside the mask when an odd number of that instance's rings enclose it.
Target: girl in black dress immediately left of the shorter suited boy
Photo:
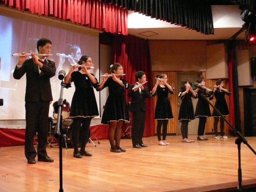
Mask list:
[[[110,77],[104,83],[103,88],[108,86],[109,95],[106,99],[105,108],[102,114],[101,123],[109,124],[108,139],[111,152],[125,152],[120,147],[123,122],[129,122],[127,103],[124,97],[124,89],[129,88],[126,80],[120,79],[118,74],[123,73],[122,65],[114,63],[109,71]]]

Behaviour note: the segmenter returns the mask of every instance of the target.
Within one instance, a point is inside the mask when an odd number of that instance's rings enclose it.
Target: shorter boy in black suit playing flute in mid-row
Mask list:
[[[131,84],[128,91],[130,100],[130,111],[132,112],[132,146],[133,148],[146,147],[142,137],[145,127],[146,98],[150,97],[148,88],[142,83],[146,82],[146,75],[143,71],[135,73],[136,83]]]

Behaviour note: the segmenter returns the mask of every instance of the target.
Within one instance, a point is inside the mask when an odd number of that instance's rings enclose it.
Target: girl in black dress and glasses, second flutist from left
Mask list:
[[[98,115],[98,107],[96,103],[93,87],[100,87],[106,81],[106,77],[99,83],[90,69],[92,64],[89,56],[83,55],[78,64],[81,65],[78,71],[74,71],[77,66],[71,66],[67,75],[65,76],[66,88],[71,87],[71,82],[74,83],[75,91],[72,97],[69,118],[72,118],[72,142],[74,147],[73,156],[81,158],[84,156],[91,156],[92,154],[85,151],[85,145],[89,138],[89,126],[93,117]],[[87,67],[86,67],[87,66]],[[82,127],[81,127],[82,124]],[[81,130],[81,147],[78,151],[78,137],[79,130]]]

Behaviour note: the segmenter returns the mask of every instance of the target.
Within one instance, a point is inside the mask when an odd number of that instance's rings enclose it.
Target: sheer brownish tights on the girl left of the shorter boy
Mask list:
[[[112,149],[120,149],[120,140],[122,133],[122,121],[110,121],[108,129],[108,139]],[[116,147],[116,148],[115,148]]]

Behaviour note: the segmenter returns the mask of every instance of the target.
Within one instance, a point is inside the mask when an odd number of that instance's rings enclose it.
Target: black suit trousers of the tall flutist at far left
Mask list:
[[[49,101],[26,102],[26,129],[25,129],[25,156],[35,158],[36,151],[33,138],[37,132],[37,157],[47,156],[47,127],[49,114]],[[36,127],[36,128],[35,128]]]

